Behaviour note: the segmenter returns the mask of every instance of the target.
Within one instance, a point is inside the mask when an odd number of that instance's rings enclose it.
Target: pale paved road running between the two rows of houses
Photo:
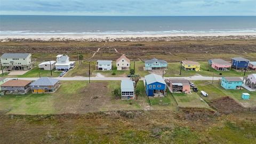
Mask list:
[[[55,77],[61,81],[88,81],[89,77]],[[212,77],[207,76],[191,76],[191,77],[164,77],[164,78],[186,78],[188,80],[204,80],[204,81],[211,81]],[[13,79],[13,78],[7,78]],[[25,78],[18,78],[18,79],[25,79],[30,81],[35,81],[38,77],[25,77]],[[121,81],[122,79],[130,79],[129,77],[91,77],[91,81]],[[214,81],[218,81],[220,77],[213,77]],[[144,77],[141,80],[145,80]]]

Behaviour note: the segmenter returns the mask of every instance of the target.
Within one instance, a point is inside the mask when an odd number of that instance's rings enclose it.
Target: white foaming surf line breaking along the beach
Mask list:
[[[109,30],[109,31],[31,31],[31,30],[2,30],[0,35],[157,35],[157,34],[222,34],[222,33],[255,33],[256,29],[210,29],[210,30],[165,30],[165,31],[130,31],[130,30]]]

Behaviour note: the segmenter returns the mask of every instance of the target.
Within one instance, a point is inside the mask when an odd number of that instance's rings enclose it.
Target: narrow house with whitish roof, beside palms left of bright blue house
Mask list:
[[[130,79],[123,79],[121,81],[121,99],[134,99],[134,82]]]

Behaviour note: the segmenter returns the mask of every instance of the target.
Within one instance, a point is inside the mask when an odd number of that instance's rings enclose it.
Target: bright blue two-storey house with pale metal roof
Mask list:
[[[145,76],[145,88],[148,97],[164,97],[166,95],[166,83],[159,75],[150,74]]]

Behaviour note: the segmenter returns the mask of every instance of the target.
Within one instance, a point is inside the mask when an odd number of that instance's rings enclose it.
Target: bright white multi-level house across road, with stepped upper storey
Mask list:
[[[59,54],[56,58],[55,68],[57,70],[70,69],[76,64],[75,61],[69,61],[68,55]]]

